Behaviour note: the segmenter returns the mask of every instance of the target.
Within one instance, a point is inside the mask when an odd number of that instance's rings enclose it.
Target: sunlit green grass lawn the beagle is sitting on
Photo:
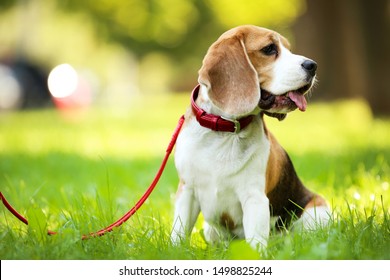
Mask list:
[[[122,216],[153,179],[188,96],[136,98],[128,109],[0,114],[0,190],[27,227],[0,208],[1,259],[390,259],[390,120],[362,101],[310,104],[269,128],[306,186],[330,202],[329,227],[272,232],[267,251],[242,241],[209,246],[201,219],[191,241],[169,242],[178,179],[173,160],[125,225],[83,233]],[[141,117],[142,116],[142,117]],[[46,227],[59,231],[47,236]]]

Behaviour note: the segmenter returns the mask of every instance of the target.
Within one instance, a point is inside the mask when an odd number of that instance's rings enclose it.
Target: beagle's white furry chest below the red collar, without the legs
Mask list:
[[[208,222],[241,224],[245,197],[264,192],[269,142],[260,120],[248,128],[242,135],[216,133],[194,120],[180,133],[176,168]]]

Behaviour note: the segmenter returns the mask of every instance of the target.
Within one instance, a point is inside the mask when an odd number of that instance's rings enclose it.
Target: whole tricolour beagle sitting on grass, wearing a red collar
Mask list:
[[[189,237],[200,212],[207,242],[245,238],[258,250],[271,216],[279,227],[294,217],[304,228],[327,223],[326,201],[305,188],[264,123],[264,114],[282,120],[306,110],[316,69],[265,28],[239,26],[211,45],[176,144],[174,243]]]

